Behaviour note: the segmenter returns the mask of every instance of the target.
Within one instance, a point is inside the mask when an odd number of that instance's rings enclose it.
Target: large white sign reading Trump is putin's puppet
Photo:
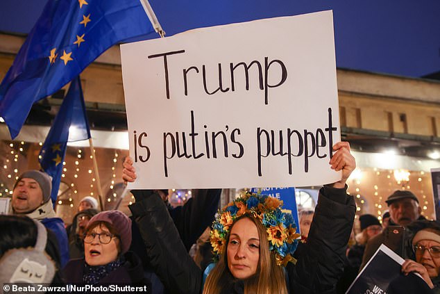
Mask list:
[[[121,45],[129,188],[312,186],[340,140],[332,12]]]

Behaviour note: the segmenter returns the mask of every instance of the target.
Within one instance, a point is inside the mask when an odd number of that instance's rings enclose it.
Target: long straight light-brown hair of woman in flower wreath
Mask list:
[[[258,237],[260,240],[268,240],[266,229],[260,222],[252,215],[244,214],[237,218],[234,224],[242,218],[248,218],[257,227]],[[230,231],[232,231],[232,227]],[[229,234],[230,234],[229,231]],[[206,279],[203,294],[219,294],[222,287],[228,285],[228,276],[232,277],[228,268],[228,250],[229,234],[226,238],[226,246],[223,246],[221,256],[217,265],[212,269],[210,275]],[[229,279],[230,279],[229,277]],[[232,279],[235,279],[232,277]],[[252,277],[244,280],[244,294],[287,294],[285,273],[281,266],[276,263],[276,256],[274,252],[269,250],[269,241],[260,242],[260,259],[258,262],[257,272]]]

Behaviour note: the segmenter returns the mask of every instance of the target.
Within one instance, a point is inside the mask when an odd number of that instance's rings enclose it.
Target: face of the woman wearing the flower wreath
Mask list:
[[[230,231],[228,268],[236,279],[246,279],[257,272],[260,260],[260,237],[257,226],[248,218],[242,218]]]

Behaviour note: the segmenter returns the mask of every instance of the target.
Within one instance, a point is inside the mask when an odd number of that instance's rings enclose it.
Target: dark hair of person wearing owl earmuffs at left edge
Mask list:
[[[0,256],[12,248],[34,247],[37,226],[26,216],[0,215]]]

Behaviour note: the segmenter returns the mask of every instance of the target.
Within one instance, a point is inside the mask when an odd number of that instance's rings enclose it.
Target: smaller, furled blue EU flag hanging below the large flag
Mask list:
[[[69,87],[60,110],[53,120],[49,134],[38,156],[41,169],[52,177],[52,203],[56,203],[60,188],[62,162],[64,161],[67,142],[90,138],[89,123],[85,114],[83,90],[79,76]]]

